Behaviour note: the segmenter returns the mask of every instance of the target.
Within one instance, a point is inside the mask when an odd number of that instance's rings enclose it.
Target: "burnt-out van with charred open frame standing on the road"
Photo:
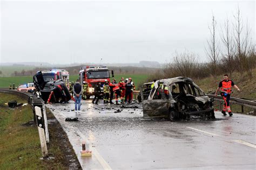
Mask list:
[[[205,95],[192,79],[174,77],[158,80],[147,98],[143,98],[143,117],[169,117],[171,121],[186,118],[215,119],[213,98]]]

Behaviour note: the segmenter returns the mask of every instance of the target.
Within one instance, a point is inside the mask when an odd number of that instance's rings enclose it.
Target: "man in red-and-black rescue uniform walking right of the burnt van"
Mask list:
[[[240,91],[240,89],[237,87],[237,85],[234,84],[234,82],[230,79],[228,79],[228,75],[225,74],[224,75],[224,80],[222,80],[219,83],[219,87],[217,88],[216,92],[215,92],[215,96],[217,96],[219,90],[220,90],[220,95],[223,97],[224,99],[224,105],[223,105],[223,110],[221,111],[221,113],[223,113],[224,116],[226,116],[226,111],[228,112],[228,115],[232,116],[232,111],[230,109],[230,95],[232,93],[232,86],[234,88],[236,88],[238,91]]]

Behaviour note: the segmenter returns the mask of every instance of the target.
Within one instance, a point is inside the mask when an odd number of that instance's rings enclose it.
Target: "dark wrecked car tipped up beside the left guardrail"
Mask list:
[[[62,80],[44,79],[42,72],[37,72],[33,76],[36,94],[41,97],[45,103],[66,103],[71,99],[66,84]]]

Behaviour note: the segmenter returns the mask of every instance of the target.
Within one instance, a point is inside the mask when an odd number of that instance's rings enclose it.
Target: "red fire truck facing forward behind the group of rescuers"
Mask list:
[[[113,70],[109,70],[106,66],[86,66],[81,68],[79,71],[79,80],[80,84],[83,84],[83,81],[88,83],[88,89],[86,91],[86,97],[90,98],[90,96],[94,95],[94,87],[100,82],[101,93],[103,94],[103,84],[105,80],[110,82],[110,72],[112,77],[114,77]]]

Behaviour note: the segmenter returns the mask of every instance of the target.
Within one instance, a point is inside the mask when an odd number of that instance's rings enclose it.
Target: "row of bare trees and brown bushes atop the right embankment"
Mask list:
[[[242,18],[239,7],[233,17],[227,17],[220,27],[212,15],[208,29],[210,37],[205,46],[206,62],[200,62],[197,54],[187,50],[176,52],[173,62],[158,70],[149,81],[176,76],[201,79],[209,74],[217,81],[218,75],[227,73],[232,77],[234,72],[239,72],[241,77],[248,74],[252,79],[256,65],[255,44],[252,41],[250,26],[247,20],[245,22]]]

